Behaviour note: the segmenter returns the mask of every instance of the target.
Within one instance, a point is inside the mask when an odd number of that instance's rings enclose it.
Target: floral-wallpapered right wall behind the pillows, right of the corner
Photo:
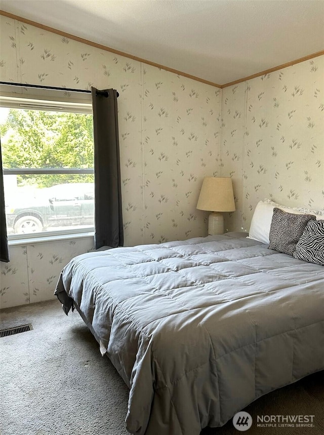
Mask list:
[[[249,231],[265,197],[324,208],[324,56],[222,91],[221,173],[236,199],[229,229]]]

